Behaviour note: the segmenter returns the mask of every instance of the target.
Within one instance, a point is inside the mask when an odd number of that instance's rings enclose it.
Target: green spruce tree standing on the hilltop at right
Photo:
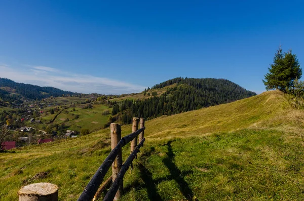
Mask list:
[[[297,56],[292,54],[291,50],[283,54],[281,47],[275,54],[274,63],[268,69],[269,73],[265,75],[265,80],[262,80],[266,90],[285,91],[286,88],[293,87],[295,79],[302,75]]]

